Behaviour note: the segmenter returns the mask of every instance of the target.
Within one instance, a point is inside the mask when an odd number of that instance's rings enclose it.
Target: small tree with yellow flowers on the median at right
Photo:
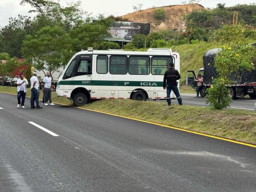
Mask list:
[[[256,50],[248,45],[244,37],[244,30],[241,25],[224,25],[215,33],[222,42],[229,46],[223,46],[222,50],[214,58],[214,66],[217,71],[217,78],[213,80],[211,88],[207,89],[206,103],[215,109],[226,108],[231,103],[227,87],[232,83],[229,76],[235,71],[255,70],[253,59],[256,58]],[[226,34],[224,33],[226,31]]]

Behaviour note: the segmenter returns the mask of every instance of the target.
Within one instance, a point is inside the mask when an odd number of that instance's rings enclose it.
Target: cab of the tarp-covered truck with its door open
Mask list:
[[[197,75],[201,75],[204,78],[204,68],[199,69],[197,72]],[[187,70],[186,73],[186,85],[190,85],[193,89],[196,89],[197,87],[197,77],[195,71],[193,70]],[[200,90],[200,96],[204,97],[205,96],[205,84],[203,84],[202,89]]]

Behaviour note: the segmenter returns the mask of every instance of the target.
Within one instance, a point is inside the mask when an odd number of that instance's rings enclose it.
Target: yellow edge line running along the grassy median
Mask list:
[[[12,93],[7,93],[7,92],[0,92],[0,93],[12,94]],[[16,94],[12,94],[12,95],[16,95]],[[56,102],[54,102],[54,103],[56,103]],[[70,105],[62,104],[62,103],[56,103],[56,104],[73,107],[73,106],[70,106]],[[75,108],[80,108],[80,109],[83,109],[83,110],[103,113],[103,114],[107,114],[107,115],[111,115],[111,116],[116,116],[116,117],[122,117],[122,118],[125,118],[125,119],[131,119],[131,120],[140,121],[140,122],[143,122],[143,123],[154,124],[154,125],[158,125],[158,126],[162,126],[162,127],[166,127],[166,128],[170,128],[170,129],[175,129],[175,130],[179,130],[179,131],[183,131],[183,132],[193,133],[193,134],[196,134],[196,135],[202,135],[202,136],[205,136],[205,137],[211,137],[211,138],[214,138],[214,139],[225,140],[225,141],[228,141],[228,142],[232,142],[232,143],[241,144],[241,145],[245,145],[245,146],[256,148],[256,145],[253,145],[253,144],[244,143],[244,142],[240,142],[240,141],[236,141],[236,140],[231,140],[231,139],[225,139],[225,138],[222,138],[222,137],[208,135],[208,134],[205,134],[205,133],[193,132],[193,131],[186,130],[186,129],[181,129],[181,128],[172,127],[172,126],[167,126],[167,125],[163,125],[163,124],[159,124],[159,123],[153,123],[153,122],[150,122],[150,121],[144,121],[144,120],[135,119],[135,118],[132,118],[132,117],[120,116],[120,115],[111,114],[111,113],[102,112],[102,111],[97,111],[97,110],[92,110],[92,109],[88,109],[88,108],[82,108],[82,107],[75,107]]]

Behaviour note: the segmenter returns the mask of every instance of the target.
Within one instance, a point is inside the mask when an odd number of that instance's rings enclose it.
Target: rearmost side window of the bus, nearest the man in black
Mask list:
[[[173,62],[172,57],[152,57],[151,60],[152,75],[164,75],[169,68],[169,63]]]

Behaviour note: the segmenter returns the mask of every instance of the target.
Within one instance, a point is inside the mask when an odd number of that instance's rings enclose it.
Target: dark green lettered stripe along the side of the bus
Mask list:
[[[95,86],[133,86],[133,87],[162,87],[163,82],[158,81],[59,81],[57,85],[95,85]]]

